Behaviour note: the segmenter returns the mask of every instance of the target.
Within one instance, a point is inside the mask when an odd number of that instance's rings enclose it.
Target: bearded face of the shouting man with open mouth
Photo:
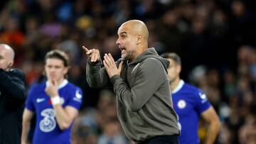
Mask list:
[[[137,35],[132,31],[129,23],[122,25],[118,29],[117,45],[121,50],[121,57],[127,60],[133,60],[137,52]]]

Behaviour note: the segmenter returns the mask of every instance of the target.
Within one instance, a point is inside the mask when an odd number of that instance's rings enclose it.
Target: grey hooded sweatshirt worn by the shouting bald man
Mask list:
[[[119,65],[122,59],[117,60]],[[149,48],[133,62],[124,60],[121,75],[111,79],[102,61],[87,62],[86,76],[90,87],[114,87],[117,116],[129,140],[142,142],[157,135],[179,135],[169,79],[169,61]]]

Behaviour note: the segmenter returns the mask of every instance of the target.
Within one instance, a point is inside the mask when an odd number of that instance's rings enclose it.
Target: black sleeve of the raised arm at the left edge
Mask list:
[[[25,76],[19,70],[0,70],[0,89],[16,99],[26,99]]]

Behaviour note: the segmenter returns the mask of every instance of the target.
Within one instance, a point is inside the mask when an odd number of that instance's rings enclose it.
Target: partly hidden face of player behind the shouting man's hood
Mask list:
[[[172,59],[168,59],[170,61],[170,65],[168,67],[168,78],[169,82],[174,82],[174,80],[179,77],[181,72],[181,65],[176,64],[176,62]]]

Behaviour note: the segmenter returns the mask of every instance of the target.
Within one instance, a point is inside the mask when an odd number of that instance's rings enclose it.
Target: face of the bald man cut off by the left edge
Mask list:
[[[0,48],[0,69],[7,70],[11,67],[11,60],[8,50]]]

